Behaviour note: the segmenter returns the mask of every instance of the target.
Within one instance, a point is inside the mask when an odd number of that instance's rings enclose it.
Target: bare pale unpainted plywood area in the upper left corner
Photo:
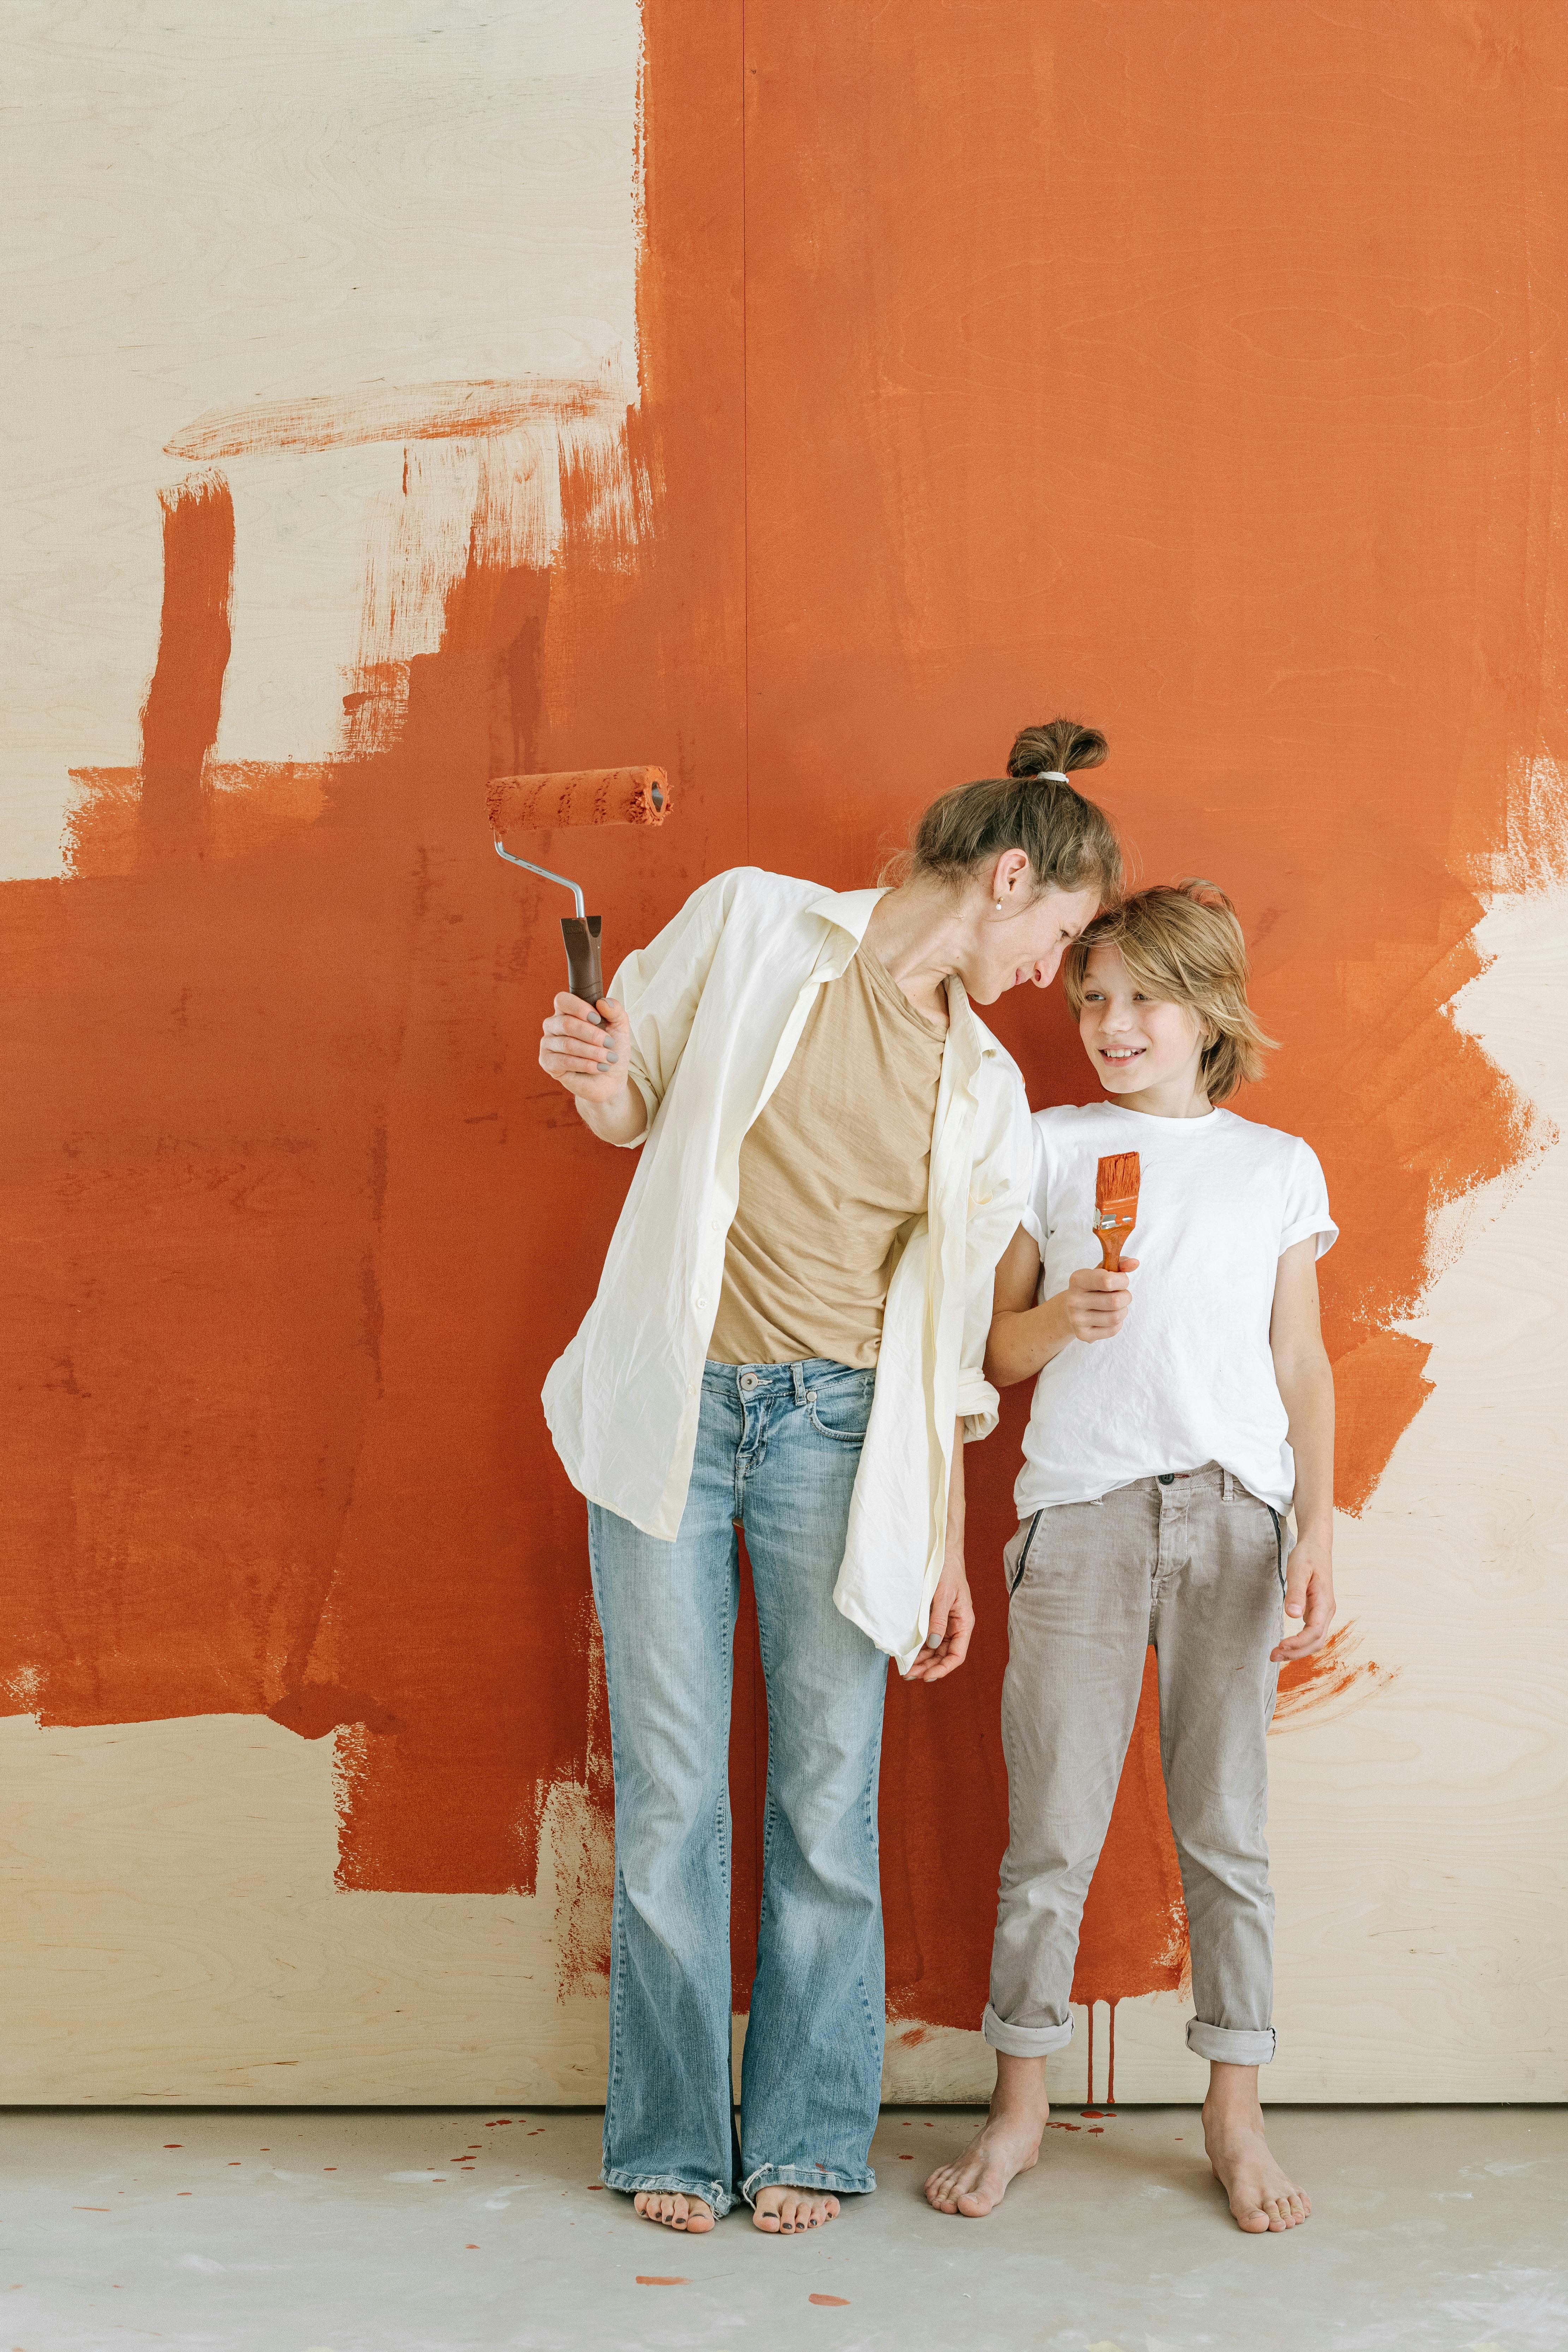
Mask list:
[[[207,412],[635,376],[637,0],[7,12],[0,875],[136,755],[165,454]],[[230,435],[233,437],[233,435]],[[397,447],[230,461],[219,750],[336,748]]]

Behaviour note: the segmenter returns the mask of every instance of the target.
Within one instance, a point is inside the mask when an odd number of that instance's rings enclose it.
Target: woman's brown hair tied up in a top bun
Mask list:
[[[1103,760],[1098,727],[1079,727],[1077,720],[1025,727],[1013,739],[1006,776],[959,783],[933,800],[910,849],[891,861],[884,880],[905,873],[961,884],[1006,849],[1023,849],[1037,898],[1048,889],[1098,889],[1100,898],[1114,898],[1121,849],[1105,809],[1051,776],[1051,769],[1067,774]]]

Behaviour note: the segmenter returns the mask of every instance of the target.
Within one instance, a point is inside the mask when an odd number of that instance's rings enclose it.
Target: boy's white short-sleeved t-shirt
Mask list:
[[[1274,1510],[1288,1510],[1295,1463],[1269,1355],[1281,1251],[1338,1240],[1316,1152],[1234,1110],[1159,1120],[1114,1103],[1037,1110],[1034,1174],[1023,1211],[1041,1256],[1039,1298],[1100,1263],[1095,1167],[1138,1152],[1133,1303],[1114,1338],[1070,1338],[1034,1381],[1013,1489],[1018,1517],[1095,1503],[1161,1470],[1220,1463]]]

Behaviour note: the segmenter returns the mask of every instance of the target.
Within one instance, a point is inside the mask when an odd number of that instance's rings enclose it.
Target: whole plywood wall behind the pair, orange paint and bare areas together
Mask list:
[[[531,0],[24,9],[0,572],[0,2096],[592,2098],[609,1776],[538,1418],[628,1171],[505,767],[658,760],[632,946],[865,880],[1058,708],[1312,1136],[1342,1630],[1274,1743],[1288,2098],[1563,2096],[1563,33]],[[545,858],[545,863],[555,863]],[[1079,1098],[1060,1007],[1006,1007]],[[616,1160],[607,1167],[607,1160]],[[893,1691],[889,2086],[971,2096],[976,1656]],[[743,1646],[736,2009],[762,1752]],[[1077,1992],[1192,2096],[1150,1724]],[[1086,2037],[1065,2063],[1086,2074]]]

